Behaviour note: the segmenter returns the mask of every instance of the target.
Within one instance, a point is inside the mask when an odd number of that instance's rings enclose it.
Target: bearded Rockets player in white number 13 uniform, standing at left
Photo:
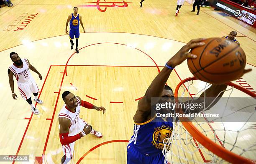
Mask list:
[[[42,80],[42,75],[36,70],[35,67],[33,67],[33,65],[30,64],[30,62],[27,59],[20,59],[16,52],[11,52],[10,58],[13,61],[13,64],[8,69],[8,75],[10,88],[13,94],[13,99],[17,99],[17,95],[14,93],[13,88],[14,76],[17,80],[21,97],[25,99],[28,102],[28,104],[30,104],[31,110],[34,114],[39,114],[38,109],[36,109],[36,107],[32,103],[31,92],[35,96],[33,99],[34,101],[38,102],[38,104],[43,104],[43,102],[40,99],[38,99],[39,89],[29,70],[36,72],[40,80]]]

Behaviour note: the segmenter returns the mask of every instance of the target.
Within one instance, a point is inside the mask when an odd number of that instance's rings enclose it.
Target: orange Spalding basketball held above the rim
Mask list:
[[[243,76],[246,55],[237,43],[225,38],[208,38],[204,42],[204,46],[191,50],[197,58],[187,60],[195,77],[204,82],[223,84]]]

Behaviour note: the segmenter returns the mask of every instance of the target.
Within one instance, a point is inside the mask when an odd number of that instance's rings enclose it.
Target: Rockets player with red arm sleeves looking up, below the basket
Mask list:
[[[64,156],[61,158],[61,164],[67,164],[72,159],[74,142],[77,139],[89,133],[94,134],[98,138],[102,137],[100,132],[92,129],[91,125],[84,122],[84,120],[79,117],[80,107],[103,111],[103,114],[106,109],[104,107],[96,107],[89,102],[83,101],[80,97],[75,96],[69,91],[63,92],[62,99],[65,104],[59,112],[59,139],[64,152]]]

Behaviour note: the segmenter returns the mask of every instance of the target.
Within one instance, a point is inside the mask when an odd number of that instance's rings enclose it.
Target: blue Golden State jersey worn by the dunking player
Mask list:
[[[129,144],[133,143],[139,152],[149,156],[161,154],[163,140],[172,136],[172,127],[172,120],[164,122],[161,117],[156,116],[145,123],[135,123]]]

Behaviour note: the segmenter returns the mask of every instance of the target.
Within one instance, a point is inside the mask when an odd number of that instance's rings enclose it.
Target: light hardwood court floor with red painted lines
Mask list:
[[[128,6],[106,7],[105,12],[100,11],[105,7],[90,7],[95,3],[82,0],[12,2],[13,7],[0,10],[0,155],[30,155],[29,163],[59,163],[63,153],[57,114],[64,104],[61,94],[69,90],[107,109],[104,115],[90,109],[81,110],[81,117],[102,132],[103,137],[87,136],[78,140],[73,162],[125,163],[138,99],[166,61],[194,38],[222,37],[236,30],[237,40],[246,52],[246,68],[253,69],[241,81],[244,87],[256,90],[256,30],[232,17],[221,16],[212,8],[201,8],[197,16],[190,12],[191,2],[186,1],[175,17],[175,0],[145,0],[142,8],[138,1],[129,0]],[[106,2],[111,5],[122,1]],[[80,33],[79,54],[70,50],[69,37],[65,34],[67,16],[74,6],[79,7],[86,30],[85,34]],[[44,101],[37,105],[39,116],[31,115],[16,83],[18,100],[11,96],[7,69],[12,64],[9,54],[13,51],[28,58],[43,76],[40,81],[32,73]],[[63,73],[65,68],[67,75]],[[167,83],[174,89],[190,76],[184,62],[175,68]],[[194,90],[197,92],[197,87]],[[102,145],[97,147],[98,144]],[[199,153],[197,156],[202,160]]]

